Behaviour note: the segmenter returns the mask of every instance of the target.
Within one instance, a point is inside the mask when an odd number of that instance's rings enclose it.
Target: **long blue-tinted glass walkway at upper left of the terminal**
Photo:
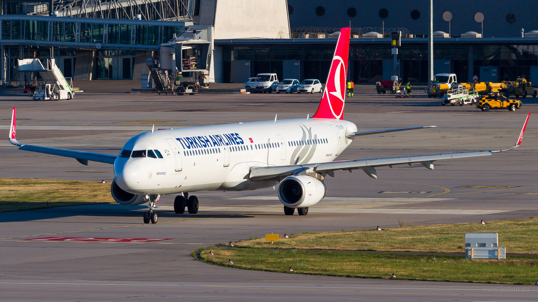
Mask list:
[[[49,24],[52,23],[49,33]],[[160,45],[181,33],[185,26],[104,24],[2,19],[2,40],[32,40],[123,45]],[[105,35],[105,30],[107,35]],[[106,39],[105,39],[106,37]],[[133,39],[134,38],[134,39]]]

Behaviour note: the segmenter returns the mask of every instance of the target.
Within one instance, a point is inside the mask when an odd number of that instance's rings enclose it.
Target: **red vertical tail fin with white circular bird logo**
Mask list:
[[[345,27],[340,30],[336,43],[335,55],[332,57],[331,68],[320,106],[313,118],[343,119],[345,100],[345,81],[348,74],[349,35],[351,28]]]

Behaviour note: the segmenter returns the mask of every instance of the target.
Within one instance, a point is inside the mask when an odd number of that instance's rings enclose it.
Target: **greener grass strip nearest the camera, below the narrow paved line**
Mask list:
[[[209,250],[214,255],[208,255]],[[351,253],[346,251],[301,251],[264,248],[203,248],[193,251],[211,264],[226,267],[339,277],[399,280],[533,284],[538,259],[469,260],[462,256]],[[233,264],[227,264],[232,260]]]

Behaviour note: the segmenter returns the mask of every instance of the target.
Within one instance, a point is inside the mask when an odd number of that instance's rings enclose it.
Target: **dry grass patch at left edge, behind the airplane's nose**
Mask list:
[[[114,203],[110,184],[55,179],[0,178],[0,212]]]

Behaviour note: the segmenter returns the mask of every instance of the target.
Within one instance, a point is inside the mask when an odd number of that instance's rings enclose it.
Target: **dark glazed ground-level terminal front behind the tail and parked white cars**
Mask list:
[[[538,42],[537,42],[538,44]],[[470,53],[472,51],[472,53]],[[332,45],[293,44],[285,46],[232,46],[222,47],[223,79],[233,79],[233,61],[250,61],[250,76],[258,73],[275,72],[278,74],[286,60],[299,61],[300,77],[318,78],[322,82],[327,77],[330,60],[334,53]],[[474,60],[471,60],[473,57]],[[353,82],[379,82],[383,71],[393,70],[394,57],[390,45],[351,45],[349,53],[349,73]],[[405,44],[398,49],[400,76],[405,82],[428,81],[428,45]],[[499,81],[514,80],[516,77],[529,77],[530,67],[538,66],[538,45],[470,45],[464,43],[434,44],[434,66],[441,61],[447,71],[455,73],[460,82],[468,82],[469,68],[472,74],[480,75],[481,66],[499,67]],[[470,65],[472,64],[472,65]],[[243,64],[244,65],[244,64]],[[437,68],[437,67],[436,67]],[[286,69],[286,68],[284,68]],[[289,70],[289,68],[288,68]],[[286,75],[280,75],[284,78]]]

